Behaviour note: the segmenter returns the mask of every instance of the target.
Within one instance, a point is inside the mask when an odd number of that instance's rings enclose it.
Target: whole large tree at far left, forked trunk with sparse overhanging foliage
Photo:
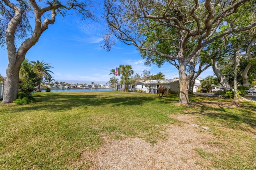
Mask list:
[[[42,33],[54,24],[57,15],[66,16],[73,10],[83,19],[95,19],[91,5],[90,0],[0,0],[0,43],[3,45],[5,39],[9,61],[2,103],[11,103],[16,99],[20,65]],[[34,28],[30,25],[30,18],[34,18]],[[16,43],[18,39],[22,40],[19,47]]]

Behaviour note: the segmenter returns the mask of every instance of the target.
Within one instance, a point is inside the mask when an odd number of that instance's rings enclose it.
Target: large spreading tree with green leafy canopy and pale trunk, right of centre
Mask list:
[[[189,104],[186,88],[195,74],[190,62],[219,38],[254,28],[254,4],[252,0],[105,0],[104,15],[109,26],[105,46],[110,49],[114,35],[135,45],[147,57],[176,62],[179,103]],[[227,20],[232,15],[243,16],[244,8],[250,12],[250,24],[239,25],[234,19],[232,23],[237,27],[233,28]]]

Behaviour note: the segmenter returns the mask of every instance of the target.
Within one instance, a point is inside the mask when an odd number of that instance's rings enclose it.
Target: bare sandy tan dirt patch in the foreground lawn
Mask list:
[[[191,126],[196,115],[179,114],[170,117],[182,123],[179,126],[170,125],[166,139],[158,141],[157,144],[152,145],[140,138],[114,140],[104,137],[102,147],[94,153],[84,152],[82,160],[91,161],[90,170],[208,169],[211,162],[206,162],[195,149],[220,152],[218,147],[209,142],[214,136],[208,130]]]

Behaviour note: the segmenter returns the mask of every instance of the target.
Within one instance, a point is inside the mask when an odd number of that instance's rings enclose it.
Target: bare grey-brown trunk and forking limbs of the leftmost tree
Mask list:
[[[22,21],[23,10],[12,4],[9,0],[4,0],[4,3],[15,11],[14,17],[8,23],[6,29],[6,46],[9,64],[6,70],[6,81],[4,82],[4,96],[1,104],[12,103],[18,94],[19,87],[19,70],[22,62],[25,59],[25,55],[28,50],[38,42],[42,33],[48,28],[49,24],[54,24],[56,13],[52,10],[52,18],[46,18],[44,22],[41,22],[41,16],[46,12],[46,8],[40,10],[35,1],[31,1],[34,7],[35,17],[35,28],[32,36],[26,39],[16,50],[15,46],[15,31]],[[58,6],[50,6],[51,9],[57,8]],[[50,10],[50,9],[49,9]]]

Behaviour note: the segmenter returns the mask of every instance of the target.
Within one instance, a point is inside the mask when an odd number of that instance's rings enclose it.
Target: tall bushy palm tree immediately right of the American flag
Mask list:
[[[134,73],[131,65],[119,65],[118,74],[122,74],[120,83],[124,84],[124,91],[128,91],[129,83],[131,82],[130,76]]]

